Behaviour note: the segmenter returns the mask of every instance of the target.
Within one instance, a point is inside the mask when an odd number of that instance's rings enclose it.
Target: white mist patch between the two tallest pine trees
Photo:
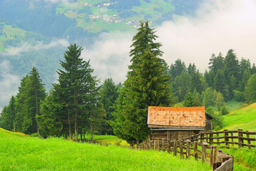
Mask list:
[[[85,61],[90,59],[91,68],[103,82],[106,78],[113,78],[116,83],[126,80],[130,63],[130,33],[103,33],[91,48],[83,47],[81,56]]]

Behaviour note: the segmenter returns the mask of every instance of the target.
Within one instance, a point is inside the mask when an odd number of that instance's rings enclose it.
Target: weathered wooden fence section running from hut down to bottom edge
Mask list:
[[[202,160],[202,162],[209,162],[213,170],[232,170],[234,157],[227,155],[222,150],[217,150],[217,146],[208,145],[208,142],[198,142],[191,140],[174,140],[170,141],[167,138],[155,138],[148,140],[138,146],[138,149],[143,150],[167,150],[173,152],[173,155],[180,155],[180,158],[190,158],[195,160]]]

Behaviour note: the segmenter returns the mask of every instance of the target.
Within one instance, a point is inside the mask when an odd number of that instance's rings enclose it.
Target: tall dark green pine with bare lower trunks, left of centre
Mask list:
[[[71,44],[64,53],[65,61],[61,61],[63,70],[58,70],[58,84],[54,90],[58,92],[59,103],[63,105],[63,118],[68,120],[68,134],[72,138],[71,120],[73,120],[75,140],[78,141],[78,128],[89,122],[93,105],[98,102],[98,80],[91,76],[93,69],[89,61],[83,61],[82,48]],[[80,123],[80,126],[78,125]]]

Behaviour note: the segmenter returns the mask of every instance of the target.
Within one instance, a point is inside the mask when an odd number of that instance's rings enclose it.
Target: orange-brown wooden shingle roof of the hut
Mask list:
[[[150,128],[204,128],[205,107],[148,107]]]

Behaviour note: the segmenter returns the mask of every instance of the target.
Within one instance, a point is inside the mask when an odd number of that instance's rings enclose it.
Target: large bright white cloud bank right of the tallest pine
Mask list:
[[[227,54],[230,48],[238,58],[256,63],[256,1],[206,1],[197,16],[183,16],[156,28],[168,64],[181,58],[195,63],[200,71],[208,68],[212,53]]]

